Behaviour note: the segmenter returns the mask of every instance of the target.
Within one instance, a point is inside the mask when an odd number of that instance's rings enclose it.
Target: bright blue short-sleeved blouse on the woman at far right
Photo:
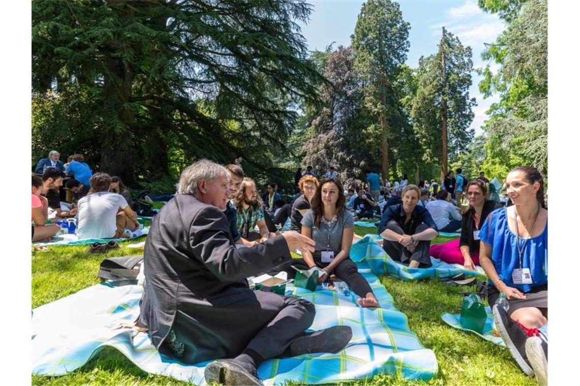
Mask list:
[[[529,268],[532,284],[513,284],[512,273],[520,267],[517,252],[517,237],[509,229],[507,209],[499,208],[491,212],[479,231],[479,237],[485,244],[491,245],[491,260],[499,278],[510,287],[522,292],[530,292],[535,286],[548,284],[548,222],[542,234],[532,237],[525,244],[521,255],[523,268]],[[520,237],[520,246],[523,242]],[[493,284],[491,280],[490,284]]]

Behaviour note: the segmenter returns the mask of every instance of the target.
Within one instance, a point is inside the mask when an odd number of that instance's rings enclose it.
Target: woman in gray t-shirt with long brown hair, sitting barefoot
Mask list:
[[[379,302],[371,286],[350,260],[353,242],[353,215],[345,209],[345,193],[342,183],[335,178],[324,178],[312,198],[312,209],[302,219],[302,234],[316,241],[314,253],[305,252],[302,259],[309,268],[321,267],[325,281],[334,273],[360,296],[361,307],[378,307]]]

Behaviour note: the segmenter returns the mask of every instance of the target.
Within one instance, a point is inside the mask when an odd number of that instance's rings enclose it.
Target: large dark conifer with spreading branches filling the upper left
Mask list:
[[[167,171],[172,156],[225,163],[246,151],[249,170],[267,173],[270,150],[287,153],[295,106],[316,103],[322,81],[294,22],[310,11],[289,0],[35,0],[33,98],[88,90],[98,127],[83,130],[100,135],[86,146],[125,181]]]

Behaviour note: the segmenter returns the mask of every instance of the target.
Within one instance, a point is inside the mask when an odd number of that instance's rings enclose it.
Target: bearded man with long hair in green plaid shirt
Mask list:
[[[242,242],[248,246],[252,241],[264,242],[276,233],[270,232],[264,220],[262,200],[253,179],[245,177],[240,190],[234,196],[234,207],[238,214],[237,227]],[[258,226],[259,232],[254,230]]]

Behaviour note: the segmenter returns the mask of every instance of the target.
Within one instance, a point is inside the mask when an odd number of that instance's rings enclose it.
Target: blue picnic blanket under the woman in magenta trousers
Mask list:
[[[465,275],[485,275],[483,268],[477,271],[463,269],[461,264],[449,264],[439,259],[431,258],[430,268],[409,268],[403,263],[391,259],[383,247],[375,241],[375,235],[366,235],[350,247],[350,258],[354,262],[366,261],[376,275],[389,275],[403,280],[419,280],[424,278],[445,278],[460,273]]]

